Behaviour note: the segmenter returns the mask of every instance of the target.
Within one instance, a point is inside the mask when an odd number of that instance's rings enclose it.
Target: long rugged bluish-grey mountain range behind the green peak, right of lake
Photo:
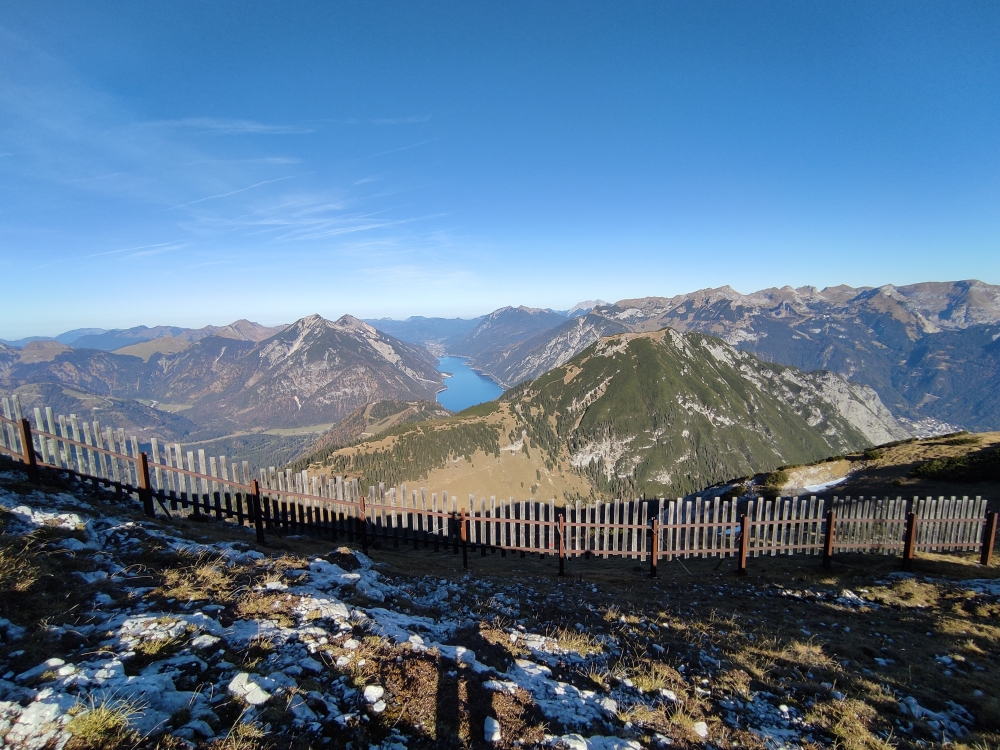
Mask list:
[[[669,326],[719,336],[737,348],[802,370],[832,370],[871,386],[894,414],[968,429],[1000,427],[1000,287],[980,281],[929,282],[855,289],[847,286],[730,287],[676,297],[626,299],[598,307],[636,332]],[[582,351],[586,337],[561,329],[491,356],[478,366],[506,383],[530,377],[548,361]]]

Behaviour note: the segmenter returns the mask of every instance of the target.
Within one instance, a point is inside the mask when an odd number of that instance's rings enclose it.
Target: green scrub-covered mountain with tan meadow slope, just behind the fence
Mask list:
[[[395,483],[477,453],[491,472],[524,456],[543,489],[543,474],[572,472],[601,495],[677,496],[907,434],[866,386],[667,329],[601,339],[501,403],[389,430],[317,463]]]

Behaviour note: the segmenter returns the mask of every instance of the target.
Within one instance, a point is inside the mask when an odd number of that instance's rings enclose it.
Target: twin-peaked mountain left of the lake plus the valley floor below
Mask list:
[[[231,334],[240,326],[223,328]],[[423,347],[349,315],[336,322],[312,315],[276,333],[255,330],[268,335],[255,340],[216,330],[179,350],[141,354],[134,350],[176,341],[177,333],[118,352],[58,341],[0,344],[0,385],[29,411],[59,407],[142,437],[213,440],[211,450],[279,461],[359,407],[433,400],[441,387],[437,360]]]

